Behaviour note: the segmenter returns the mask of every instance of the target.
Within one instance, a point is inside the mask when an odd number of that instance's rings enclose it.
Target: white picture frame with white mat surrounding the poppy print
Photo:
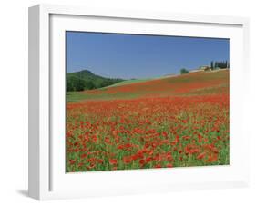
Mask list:
[[[233,133],[233,137],[230,137],[233,139],[230,144],[230,165],[175,168],[171,171],[153,169],[66,174],[63,161],[65,136],[56,127],[65,126],[63,32],[70,29],[230,38],[230,134]],[[248,30],[249,20],[242,17],[101,10],[65,5],[30,7],[29,196],[37,200],[51,200],[247,186],[249,162],[244,159],[248,154],[250,136],[242,128],[242,122],[245,121],[242,107],[246,99],[246,93],[242,91],[246,90],[249,76]],[[56,138],[57,134],[63,137]],[[87,186],[75,188],[74,185],[79,181],[87,181]]]

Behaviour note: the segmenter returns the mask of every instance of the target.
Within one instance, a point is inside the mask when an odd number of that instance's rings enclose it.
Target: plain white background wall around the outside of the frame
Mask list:
[[[245,115],[251,133],[256,127],[255,38],[253,0],[5,0],[0,5],[0,203],[33,204],[27,198],[27,7],[39,3],[99,6],[175,13],[239,15],[251,18],[251,99]],[[243,69],[243,68],[241,68]],[[177,191],[86,200],[56,200],[47,204],[256,204],[256,141],[251,134],[251,187],[231,190]]]

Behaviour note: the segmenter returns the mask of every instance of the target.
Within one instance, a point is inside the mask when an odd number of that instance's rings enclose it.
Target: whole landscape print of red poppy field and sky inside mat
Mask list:
[[[66,171],[230,163],[230,40],[66,32]]]

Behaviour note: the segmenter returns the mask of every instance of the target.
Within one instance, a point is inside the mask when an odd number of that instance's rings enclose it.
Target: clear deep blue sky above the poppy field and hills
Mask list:
[[[67,32],[67,73],[150,78],[230,59],[228,39]]]

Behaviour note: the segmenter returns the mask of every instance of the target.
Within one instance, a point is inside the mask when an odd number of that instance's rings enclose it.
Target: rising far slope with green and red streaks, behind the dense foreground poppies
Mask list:
[[[229,71],[188,73],[148,81],[123,82],[92,91],[69,92],[67,102],[83,100],[131,99],[148,96],[177,96],[193,94],[227,93]]]

